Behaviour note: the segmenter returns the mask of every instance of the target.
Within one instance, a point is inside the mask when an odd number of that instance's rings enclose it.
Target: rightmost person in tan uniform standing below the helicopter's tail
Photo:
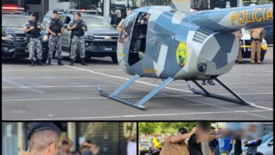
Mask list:
[[[257,51],[257,63],[262,64],[261,62],[261,49],[262,49],[262,37],[264,37],[263,28],[255,28],[250,30],[251,36],[251,58],[250,63],[255,63],[255,52]]]

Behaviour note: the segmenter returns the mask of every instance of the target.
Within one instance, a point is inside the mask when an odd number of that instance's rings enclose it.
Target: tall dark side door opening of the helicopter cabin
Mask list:
[[[138,19],[135,21],[135,26],[133,30],[133,37],[130,44],[130,55],[129,55],[129,64],[133,65],[134,63],[142,60],[145,55],[146,48],[146,36],[147,36],[147,27],[149,21],[149,13],[140,13]]]

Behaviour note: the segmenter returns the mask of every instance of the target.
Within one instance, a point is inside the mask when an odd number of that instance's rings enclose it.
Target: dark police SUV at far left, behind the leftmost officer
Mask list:
[[[2,58],[27,58],[27,34],[23,27],[30,16],[23,11],[2,10]],[[47,61],[48,39],[42,34],[42,62]]]

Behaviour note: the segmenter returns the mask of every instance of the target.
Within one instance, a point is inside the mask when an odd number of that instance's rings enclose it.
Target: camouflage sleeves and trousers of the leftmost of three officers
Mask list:
[[[37,25],[40,25],[40,23],[38,22]],[[29,27],[30,27],[30,22],[27,21],[27,23],[25,23],[25,25],[24,25],[24,28],[27,29]],[[35,59],[35,51],[37,52],[37,55],[36,55],[37,59],[42,60],[42,45],[41,45],[39,37],[37,37],[37,38],[30,37],[30,40],[29,40],[27,46],[28,46],[28,51],[30,54],[30,60]]]

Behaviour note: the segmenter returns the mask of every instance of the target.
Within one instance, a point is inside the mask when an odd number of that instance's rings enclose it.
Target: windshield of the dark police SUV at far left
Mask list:
[[[15,17],[15,16],[2,16],[2,26],[4,27],[24,27],[25,23],[29,20],[28,17]]]

